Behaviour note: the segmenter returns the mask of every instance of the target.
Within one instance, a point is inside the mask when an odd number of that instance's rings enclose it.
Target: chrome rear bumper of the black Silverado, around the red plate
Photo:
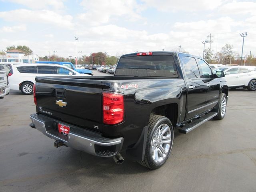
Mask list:
[[[44,135],[63,142],[76,150],[100,156],[112,157],[120,152],[124,138],[105,138],[98,133],[69,125],[41,114],[31,114],[32,125]],[[68,136],[58,132],[57,124],[65,124],[70,127]]]

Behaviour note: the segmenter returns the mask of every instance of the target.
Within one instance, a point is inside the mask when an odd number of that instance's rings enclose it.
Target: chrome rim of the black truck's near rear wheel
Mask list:
[[[168,124],[161,124],[151,141],[151,157],[156,163],[163,162],[171,147],[171,130]]]

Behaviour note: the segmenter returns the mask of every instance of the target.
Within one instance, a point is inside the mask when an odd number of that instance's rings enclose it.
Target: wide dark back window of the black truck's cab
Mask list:
[[[150,55],[123,57],[116,76],[178,77],[173,56]]]

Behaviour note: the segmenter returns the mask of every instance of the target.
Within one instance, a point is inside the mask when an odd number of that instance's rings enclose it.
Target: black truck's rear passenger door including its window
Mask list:
[[[180,60],[186,73],[186,82],[188,86],[187,96],[187,116],[186,120],[204,112],[206,103],[206,84],[204,79],[200,78],[199,68],[196,58],[179,54]]]

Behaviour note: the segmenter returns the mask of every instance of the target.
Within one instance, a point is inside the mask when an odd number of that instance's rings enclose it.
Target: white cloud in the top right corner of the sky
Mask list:
[[[232,2],[224,4],[218,10],[221,14],[253,14],[256,15],[256,2]]]

